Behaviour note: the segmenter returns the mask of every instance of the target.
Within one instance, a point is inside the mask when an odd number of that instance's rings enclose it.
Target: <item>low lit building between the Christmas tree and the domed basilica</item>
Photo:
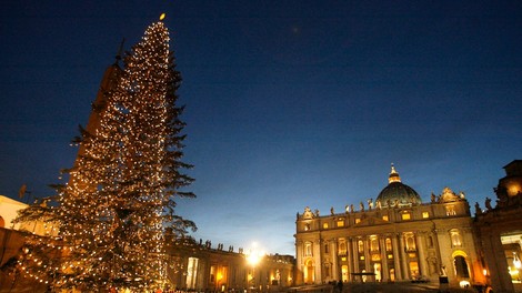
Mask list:
[[[211,249],[201,244],[172,246],[169,252],[170,287],[188,291],[280,291],[293,285],[294,257],[291,255],[262,255],[255,264],[248,255],[231,247]]]

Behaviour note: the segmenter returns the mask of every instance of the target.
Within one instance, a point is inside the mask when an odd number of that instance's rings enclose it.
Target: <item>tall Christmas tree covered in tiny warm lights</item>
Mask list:
[[[163,22],[147,28],[98,104],[96,130],[81,130],[68,184],[24,210],[18,221],[44,221],[28,235],[19,267],[53,290],[144,291],[167,282],[165,241],[195,230],[174,212],[193,180],[182,171],[181,78]]]

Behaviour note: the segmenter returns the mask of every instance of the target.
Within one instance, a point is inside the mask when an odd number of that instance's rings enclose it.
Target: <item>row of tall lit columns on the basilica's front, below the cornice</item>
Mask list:
[[[303,267],[303,271],[315,273],[314,283],[339,280],[358,282],[363,279],[388,282],[426,276],[433,272],[430,272],[428,264],[426,250],[429,247],[426,247],[425,234],[426,232],[405,232],[317,240],[312,251],[320,257],[301,255],[302,260],[310,257],[314,260],[314,267],[312,270]],[[406,243],[406,235],[413,238],[409,243]],[[362,241],[362,247],[360,247],[360,241]],[[375,242],[372,246],[372,241],[377,241],[378,246]],[[328,252],[323,249],[325,245],[328,245]],[[340,246],[347,247],[345,252],[341,251]],[[440,255],[436,255],[436,259],[440,263]],[[305,263],[312,265],[312,262],[302,262],[302,265],[305,266]],[[330,271],[325,272],[325,270]]]

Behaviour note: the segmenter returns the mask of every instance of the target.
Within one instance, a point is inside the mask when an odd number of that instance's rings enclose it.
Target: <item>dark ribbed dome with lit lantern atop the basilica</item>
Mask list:
[[[421,196],[415,190],[403,184],[395,168],[391,166],[388,186],[385,186],[375,200],[379,206],[405,206],[421,204]]]

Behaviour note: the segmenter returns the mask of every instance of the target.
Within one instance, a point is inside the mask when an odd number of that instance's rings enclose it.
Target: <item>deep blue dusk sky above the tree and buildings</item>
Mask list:
[[[522,159],[522,1],[4,1],[0,194],[52,194],[121,40],[162,12],[195,165],[178,213],[214,247],[294,254],[298,212],[374,200],[391,163],[423,202],[484,206]]]

